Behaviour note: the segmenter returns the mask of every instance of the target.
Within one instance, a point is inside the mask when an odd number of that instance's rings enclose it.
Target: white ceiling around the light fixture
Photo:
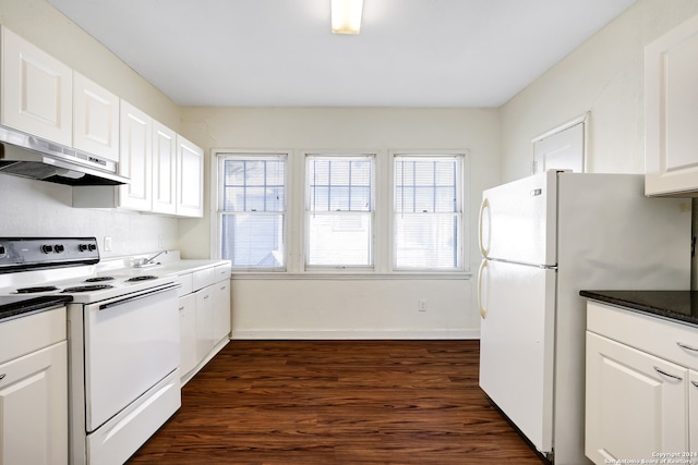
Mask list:
[[[635,0],[48,0],[181,106],[498,107]]]

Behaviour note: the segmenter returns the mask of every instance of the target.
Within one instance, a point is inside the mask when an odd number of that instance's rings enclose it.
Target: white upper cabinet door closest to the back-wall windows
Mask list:
[[[177,215],[204,216],[204,151],[177,136]]]

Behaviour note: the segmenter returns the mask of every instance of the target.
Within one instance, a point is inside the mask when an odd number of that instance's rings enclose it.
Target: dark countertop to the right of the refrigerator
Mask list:
[[[698,326],[698,291],[580,291],[579,295]]]

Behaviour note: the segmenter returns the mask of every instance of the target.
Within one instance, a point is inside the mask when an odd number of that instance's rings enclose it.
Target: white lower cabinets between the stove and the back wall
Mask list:
[[[189,381],[227,343],[230,334],[230,265],[179,276],[180,372]]]

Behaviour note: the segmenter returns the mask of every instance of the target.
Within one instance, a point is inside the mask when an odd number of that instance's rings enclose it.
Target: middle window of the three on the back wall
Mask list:
[[[373,267],[374,156],[305,157],[305,266]]]

